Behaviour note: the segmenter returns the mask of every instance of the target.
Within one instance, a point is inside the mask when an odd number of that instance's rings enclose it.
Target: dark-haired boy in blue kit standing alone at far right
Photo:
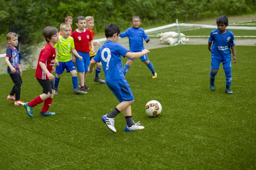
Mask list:
[[[233,53],[233,62],[236,63],[236,47],[234,34],[227,30],[226,27],[228,27],[228,17],[223,15],[219,16],[217,18],[218,29],[212,30],[209,37],[208,49],[211,51],[210,89],[215,90],[215,76],[219,71],[220,63],[222,63],[226,75],[225,92],[227,94],[233,94],[230,88],[232,80],[230,48]]]

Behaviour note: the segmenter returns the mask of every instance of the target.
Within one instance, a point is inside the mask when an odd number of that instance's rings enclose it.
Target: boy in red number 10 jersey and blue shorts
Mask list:
[[[92,47],[91,51],[94,52],[93,47],[93,40],[90,30],[86,29],[86,20],[83,16],[77,17],[76,25],[78,29],[76,29],[71,37],[74,38],[75,43],[75,49],[77,50],[77,53],[82,56],[82,61],[78,59],[77,56],[73,58],[73,62],[76,62],[77,65],[77,71],[79,72],[79,80],[80,80],[80,90],[87,92],[86,89],[89,89],[89,87],[85,83],[85,79],[88,73],[88,66],[90,64],[90,49],[89,44]]]

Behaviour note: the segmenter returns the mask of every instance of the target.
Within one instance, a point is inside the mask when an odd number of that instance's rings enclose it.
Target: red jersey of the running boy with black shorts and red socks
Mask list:
[[[51,46],[50,43],[47,43],[44,48],[42,48],[39,58],[38,58],[38,63],[37,63],[37,67],[36,67],[36,74],[35,77],[38,79],[42,79],[42,80],[46,80],[48,79],[47,75],[45,74],[45,72],[42,70],[42,68],[39,65],[39,61],[41,61],[42,63],[45,63],[45,66],[47,68],[47,70],[51,72],[52,70],[52,66],[54,65],[54,61],[55,61],[55,56],[56,56],[56,52],[55,52],[55,48]]]

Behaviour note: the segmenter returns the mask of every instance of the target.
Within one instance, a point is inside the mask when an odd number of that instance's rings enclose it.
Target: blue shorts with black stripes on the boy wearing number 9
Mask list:
[[[122,101],[134,100],[130,86],[125,79],[108,82],[106,84],[120,103]]]

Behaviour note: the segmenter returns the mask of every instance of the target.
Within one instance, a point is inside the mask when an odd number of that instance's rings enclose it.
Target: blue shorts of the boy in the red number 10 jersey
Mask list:
[[[76,65],[77,65],[77,71],[78,72],[88,72],[88,67],[90,64],[90,55],[89,53],[83,53],[80,51],[77,51],[77,53],[83,58],[82,61],[80,61],[78,59],[77,56],[76,57]]]

